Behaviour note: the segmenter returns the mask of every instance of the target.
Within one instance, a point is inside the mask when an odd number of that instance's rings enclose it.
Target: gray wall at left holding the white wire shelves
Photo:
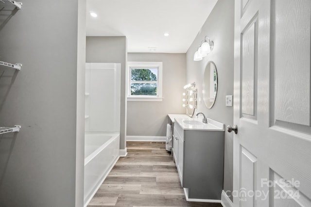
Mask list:
[[[77,68],[85,51],[77,43],[86,1],[22,2],[18,11],[0,2],[0,60],[23,64],[19,72],[0,66],[0,125],[22,127],[0,135],[0,206],[82,206],[76,193],[83,189],[84,136],[76,135],[84,86],[77,88]]]

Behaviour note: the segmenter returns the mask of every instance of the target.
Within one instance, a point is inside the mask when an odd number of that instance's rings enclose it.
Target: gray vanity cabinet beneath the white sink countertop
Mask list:
[[[224,140],[224,131],[184,130],[175,122],[174,159],[188,198],[221,200]]]

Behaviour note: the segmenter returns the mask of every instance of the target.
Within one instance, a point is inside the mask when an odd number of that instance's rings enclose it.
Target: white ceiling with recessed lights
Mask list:
[[[86,2],[86,36],[126,36],[128,52],[151,52],[152,47],[155,52],[185,53],[217,0]],[[90,16],[90,11],[98,16]]]

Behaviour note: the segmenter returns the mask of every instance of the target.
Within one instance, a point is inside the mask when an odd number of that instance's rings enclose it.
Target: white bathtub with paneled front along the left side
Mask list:
[[[86,132],[84,159],[85,207],[119,159],[119,149],[119,133]]]

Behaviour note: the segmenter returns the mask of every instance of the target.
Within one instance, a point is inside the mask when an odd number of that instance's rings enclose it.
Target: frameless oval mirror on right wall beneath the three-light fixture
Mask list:
[[[213,107],[217,95],[217,70],[214,62],[208,62],[203,77],[203,100],[207,109]]]

